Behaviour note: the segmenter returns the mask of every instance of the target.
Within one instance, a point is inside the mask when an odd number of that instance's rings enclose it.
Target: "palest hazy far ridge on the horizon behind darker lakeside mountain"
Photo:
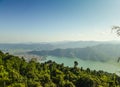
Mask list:
[[[66,48],[85,48],[96,46],[100,44],[120,44],[119,41],[63,41],[50,43],[54,49],[66,49]]]

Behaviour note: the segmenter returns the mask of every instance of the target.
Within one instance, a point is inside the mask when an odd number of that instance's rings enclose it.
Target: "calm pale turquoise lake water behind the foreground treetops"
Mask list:
[[[120,75],[120,63],[116,61],[109,61],[109,62],[100,62],[100,61],[89,61],[89,60],[81,60],[79,58],[65,58],[65,57],[46,57],[45,61],[52,60],[56,63],[64,63],[65,66],[73,67],[74,61],[77,61],[78,67],[83,67],[84,69],[90,68],[91,70],[103,70],[110,73],[116,73]],[[43,62],[45,62],[43,61]]]

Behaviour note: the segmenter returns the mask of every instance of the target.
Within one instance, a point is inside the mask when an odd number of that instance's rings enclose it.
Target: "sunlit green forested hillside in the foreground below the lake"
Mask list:
[[[52,61],[38,63],[0,51],[0,87],[120,87],[120,77]]]

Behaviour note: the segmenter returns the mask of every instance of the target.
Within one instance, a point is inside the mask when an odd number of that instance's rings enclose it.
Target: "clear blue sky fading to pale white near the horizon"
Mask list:
[[[0,0],[0,43],[120,40],[120,0]]]

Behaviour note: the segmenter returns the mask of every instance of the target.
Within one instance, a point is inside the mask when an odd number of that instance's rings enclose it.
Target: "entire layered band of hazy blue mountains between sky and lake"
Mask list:
[[[26,53],[58,57],[78,57],[84,60],[106,61],[119,57],[119,42],[65,41],[51,43],[0,44],[0,50],[14,55]]]

